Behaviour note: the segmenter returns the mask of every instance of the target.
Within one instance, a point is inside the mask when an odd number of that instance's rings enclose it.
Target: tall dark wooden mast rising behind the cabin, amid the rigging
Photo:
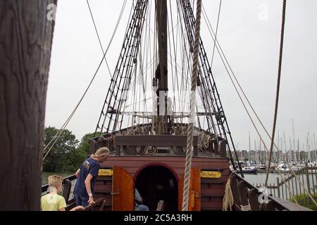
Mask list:
[[[159,42],[159,66],[156,69],[154,85],[157,86],[156,94],[158,97],[157,113],[159,120],[166,123],[165,130],[168,130],[168,34],[167,34],[167,4],[166,0],[156,0],[156,25],[158,28],[158,42]],[[158,82],[158,83],[156,83]],[[165,119],[165,120],[164,120]]]

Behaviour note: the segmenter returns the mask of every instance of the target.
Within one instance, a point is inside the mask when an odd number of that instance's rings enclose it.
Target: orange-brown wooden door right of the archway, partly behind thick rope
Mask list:
[[[190,186],[189,186],[189,202],[188,211],[201,210],[201,179],[200,168],[192,168],[190,171]],[[178,183],[178,210],[182,210],[182,193],[184,188],[184,175]]]

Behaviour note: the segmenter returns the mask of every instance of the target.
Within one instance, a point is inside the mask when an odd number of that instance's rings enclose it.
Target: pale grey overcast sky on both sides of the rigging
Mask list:
[[[89,3],[102,44],[106,48],[123,0],[89,0]],[[129,1],[125,15],[130,12],[131,4],[132,1]],[[203,0],[203,4],[215,28],[219,0]],[[270,134],[278,73],[281,13],[282,0],[223,0],[218,30],[218,41],[232,70]],[[280,136],[285,131],[289,145],[294,120],[295,137],[299,137],[301,148],[303,143],[306,148],[308,132],[311,142],[313,134],[317,134],[316,22],[317,1],[287,1],[277,129]],[[112,70],[118,59],[123,30],[127,23],[128,17],[124,16],[106,56]],[[213,42],[204,22],[201,32],[206,49],[211,52]],[[46,126],[59,128],[66,121],[92,79],[101,57],[101,49],[86,0],[59,0],[46,101]],[[259,138],[218,55],[214,60],[213,75],[237,148],[249,148],[249,131],[251,148],[254,148],[254,140],[259,142]],[[103,65],[92,88],[67,127],[73,131],[77,139],[96,128],[109,79]],[[265,140],[268,144],[267,137]],[[313,147],[311,143],[311,149]]]

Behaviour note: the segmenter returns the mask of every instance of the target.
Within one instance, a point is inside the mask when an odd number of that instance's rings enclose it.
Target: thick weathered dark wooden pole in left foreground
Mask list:
[[[0,210],[39,210],[56,3],[0,1]]]

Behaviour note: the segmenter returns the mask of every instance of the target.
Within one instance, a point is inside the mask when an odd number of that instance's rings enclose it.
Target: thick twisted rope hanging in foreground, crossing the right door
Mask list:
[[[187,132],[187,149],[186,149],[186,165],[185,165],[185,177],[184,177],[184,190],[182,198],[182,211],[188,210],[189,200],[189,183],[190,183],[190,170],[192,167],[192,141],[194,133],[194,112],[195,112],[195,95],[197,86],[197,72],[199,61],[199,39],[200,39],[200,23],[201,23],[201,0],[197,0],[197,15],[195,23],[195,41],[194,41],[194,55],[192,66],[192,88],[190,92],[190,118],[188,123]]]

